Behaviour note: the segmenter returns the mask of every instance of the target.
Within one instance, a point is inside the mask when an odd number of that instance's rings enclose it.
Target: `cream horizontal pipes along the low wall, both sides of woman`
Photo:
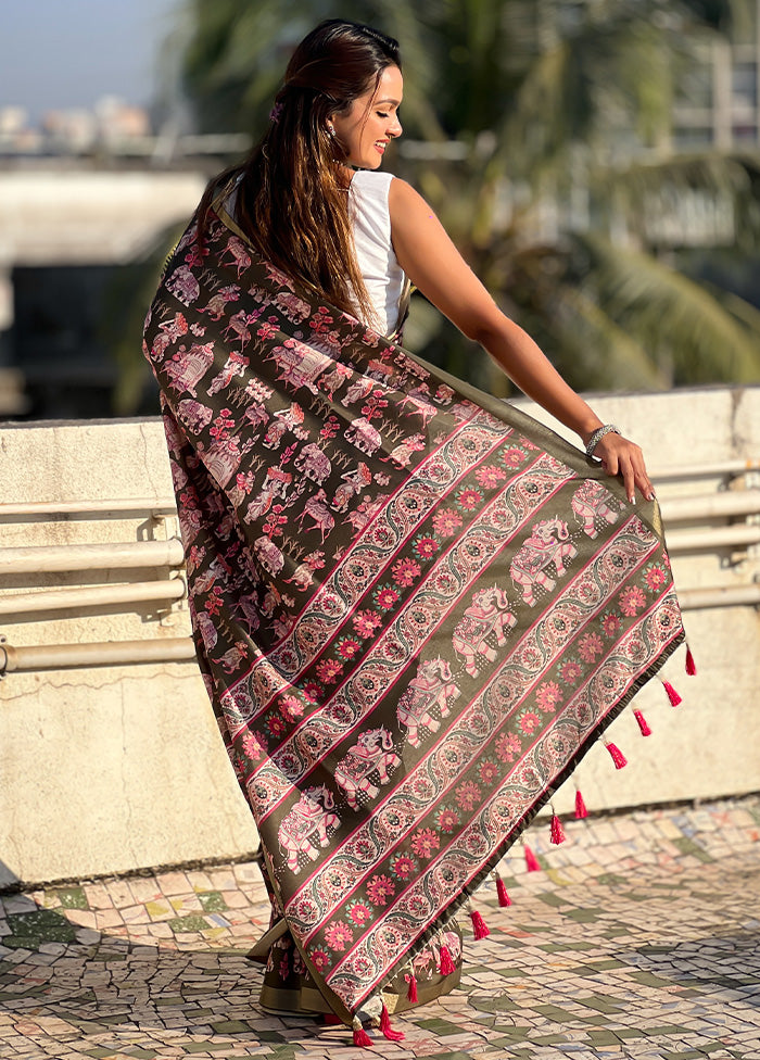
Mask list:
[[[748,477],[760,470],[760,460],[724,462],[704,468],[663,468],[653,474],[655,481],[668,481],[671,485],[692,485],[694,480],[714,479],[720,475],[720,492],[701,492],[663,501],[662,516],[666,526],[679,527],[691,523],[688,529],[671,530],[668,546],[671,555],[679,553],[718,554],[722,550],[747,548],[760,544],[760,489],[746,485]],[[88,517],[90,520],[107,520],[125,514],[144,516],[156,521],[176,517],[172,499],[115,499],[103,501],[61,501],[37,504],[0,504],[0,526],[9,518],[21,522],[25,518],[47,516]],[[157,515],[161,513],[161,515]],[[726,525],[726,519],[740,518],[740,522]],[[748,521],[749,519],[753,521]],[[25,616],[35,611],[87,611],[88,608],[111,606],[125,610],[135,604],[172,602],[186,595],[186,582],[180,577],[183,567],[182,545],[179,538],[163,541],[135,541],[100,545],[43,545],[0,548],[0,579],[9,575],[26,575],[53,571],[98,571],[104,579],[114,571],[141,568],[167,568],[168,577],[156,581],[131,581],[126,584],[61,589],[40,592],[16,592],[2,595],[0,581],[0,616]],[[679,585],[679,598],[683,610],[712,607],[752,606],[760,604],[760,583],[733,586]],[[145,640],[92,642],[76,644],[49,644],[16,647],[0,643],[0,676],[22,670],[71,669],[88,666],[113,666],[140,662],[186,662],[194,657],[189,636],[162,638],[157,642]]]

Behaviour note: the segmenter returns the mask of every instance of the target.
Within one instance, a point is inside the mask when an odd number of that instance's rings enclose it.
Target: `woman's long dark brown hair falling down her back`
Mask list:
[[[262,255],[339,308],[370,317],[340,174],[346,152],[330,135],[328,116],[347,113],[394,65],[401,70],[398,41],[369,26],[330,18],[304,37],[261,141],[206,189],[200,238],[215,194],[242,175],[236,222]]]

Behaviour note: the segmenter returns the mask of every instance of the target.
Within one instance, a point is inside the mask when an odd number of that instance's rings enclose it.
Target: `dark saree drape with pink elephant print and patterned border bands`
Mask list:
[[[144,350],[282,982],[297,966],[377,1022],[683,640],[656,502],[315,298],[218,209],[170,256]]]

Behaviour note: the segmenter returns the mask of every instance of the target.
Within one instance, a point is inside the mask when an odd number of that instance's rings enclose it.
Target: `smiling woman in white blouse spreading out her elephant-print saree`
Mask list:
[[[262,838],[262,1000],[359,1044],[456,985],[453,914],[683,639],[638,446],[377,172],[402,97],[396,41],[311,33],[145,325],[199,661]],[[587,455],[403,350],[407,277]]]

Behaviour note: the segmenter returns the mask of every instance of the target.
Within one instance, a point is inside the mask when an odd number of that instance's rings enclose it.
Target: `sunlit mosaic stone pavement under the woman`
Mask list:
[[[395,1021],[388,1060],[760,1060],[760,799],[570,822],[478,895],[461,989]],[[0,897],[2,1060],[366,1060],[345,1027],[258,1008],[252,865]]]

